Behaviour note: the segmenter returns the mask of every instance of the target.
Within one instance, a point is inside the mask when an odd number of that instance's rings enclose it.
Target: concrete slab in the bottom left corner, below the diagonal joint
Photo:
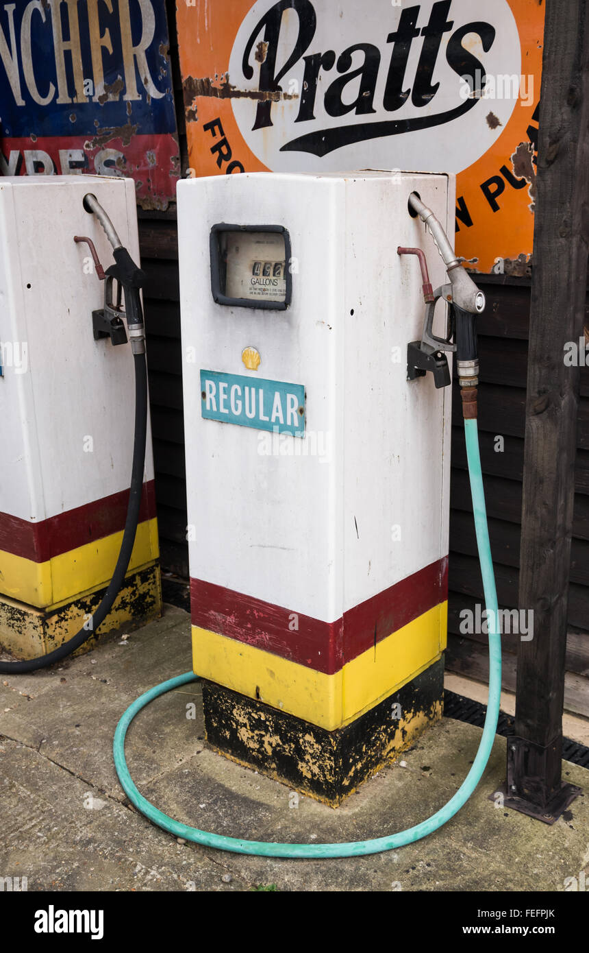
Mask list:
[[[248,890],[215,859],[16,742],[0,744],[0,871],[28,890]]]

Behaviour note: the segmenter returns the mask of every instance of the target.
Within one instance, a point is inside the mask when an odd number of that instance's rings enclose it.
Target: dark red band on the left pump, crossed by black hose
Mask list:
[[[88,542],[119,533],[125,529],[128,494],[128,490],[122,490],[39,523],[0,513],[0,551],[32,562],[46,562]],[[143,486],[139,521],[153,517],[155,483],[149,480]]]

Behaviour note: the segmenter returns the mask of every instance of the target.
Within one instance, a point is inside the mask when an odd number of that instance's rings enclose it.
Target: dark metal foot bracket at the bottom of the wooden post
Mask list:
[[[517,735],[507,739],[507,781],[491,796],[503,796],[502,804],[520,814],[553,824],[582,790],[562,781],[562,737],[542,747]]]

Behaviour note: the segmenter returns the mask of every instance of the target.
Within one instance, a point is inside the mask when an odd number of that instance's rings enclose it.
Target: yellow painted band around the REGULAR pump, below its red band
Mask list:
[[[440,659],[446,646],[446,621],[444,601],[333,675],[193,625],[193,669],[204,679],[334,731]]]

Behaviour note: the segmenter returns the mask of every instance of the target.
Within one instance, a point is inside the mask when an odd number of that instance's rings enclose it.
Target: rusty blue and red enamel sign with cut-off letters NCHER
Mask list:
[[[0,172],[127,175],[166,209],[180,174],[165,0],[0,0]]]

